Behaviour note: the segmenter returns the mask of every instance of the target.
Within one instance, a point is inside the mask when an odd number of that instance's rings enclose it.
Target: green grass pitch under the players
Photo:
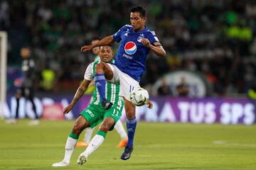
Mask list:
[[[63,159],[74,121],[27,123],[0,120],[0,169],[256,169],[256,125],[138,123],[131,159],[119,159],[113,131],[84,165],[75,164],[84,151],[76,148],[70,166],[52,168]]]

